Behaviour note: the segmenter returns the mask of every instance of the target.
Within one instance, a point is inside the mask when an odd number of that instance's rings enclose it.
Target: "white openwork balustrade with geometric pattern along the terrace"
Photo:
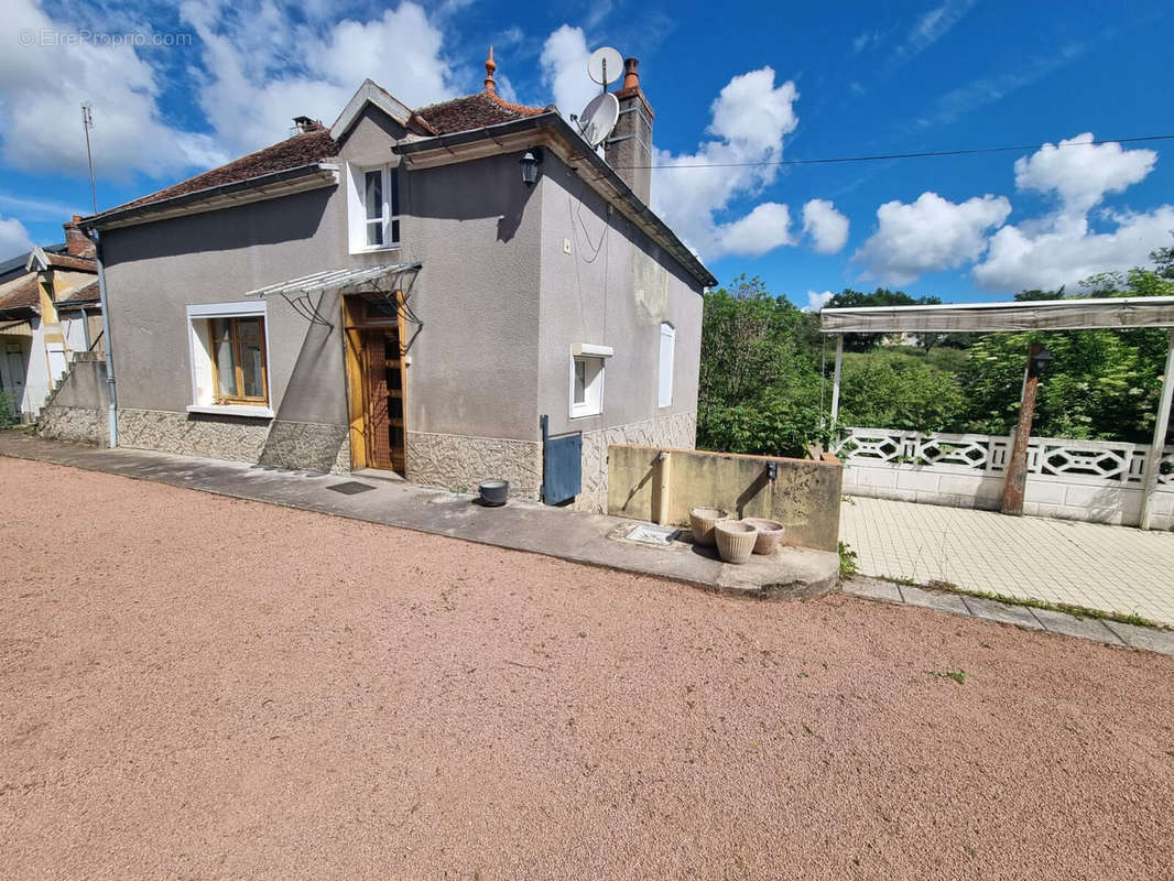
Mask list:
[[[1007,437],[946,435],[896,429],[846,429],[832,451],[848,464],[917,465],[954,473],[999,475],[1011,455]],[[1118,441],[1035,437],[1027,471],[1079,483],[1140,486],[1149,448]],[[1159,484],[1174,486],[1174,448],[1161,458]]]

